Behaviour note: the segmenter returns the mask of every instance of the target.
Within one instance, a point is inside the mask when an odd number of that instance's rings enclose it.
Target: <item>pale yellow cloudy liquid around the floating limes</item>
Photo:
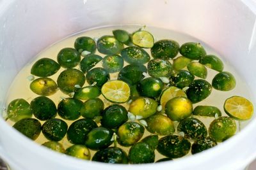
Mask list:
[[[10,103],[13,99],[17,99],[17,98],[23,98],[26,99],[26,101],[28,101],[28,103],[31,102],[31,100],[33,100],[35,97],[38,97],[35,93],[33,93],[30,89],[29,89],[29,84],[31,83],[31,80],[29,80],[29,76],[31,76],[30,74],[30,69],[33,66],[33,64],[36,62],[36,60],[41,59],[41,58],[51,58],[53,60],[57,60],[57,54],[58,52],[60,52],[60,50],[62,48],[66,48],[66,47],[72,47],[74,48],[74,41],[76,40],[76,38],[78,38],[79,36],[89,36],[91,38],[94,38],[95,41],[97,41],[98,38],[100,38],[100,36],[104,36],[104,35],[113,35],[112,31],[115,29],[124,29],[125,31],[128,32],[134,32],[138,29],[140,29],[141,26],[138,25],[123,25],[123,26],[115,26],[115,27],[101,27],[101,28],[97,28],[97,29],[91,29],[88,31],[84,31],[84,32],[79,32],[77,34],[74,34],[68,38],[65,38],[61,41],[59,41],[58,43],[55,43],[52,46],[49,46],[49,48],[45,49],[44,51],[42,51],[41,53],[39,53],[36,57],[33,58],[33,60],[31,60],[21,71],[19,74],[17,74],[15,80],[13,80],[13,83],[10,87],[10,90],[8,92],[8,98],[6,99],[6,106],[8,105],[8,103]],[[219,55],[214,49],[210,48],[209,46],[205,45],[202,41],[193,38],[192,36],[188,36],[187,34],[182,34],[180,32],[175,32],[175,31],[171,31],[168,29],[160,29],[157,27],[146,27],[145,30],[149,31],[152,33],[152,35],[155,38],[155,41],[158,41],[160,39],[173,39],[175,41],[177,41],[180,45],[182,45],[183,43],[186,42],[200,42],[204,48],[205,51],[207,52],[207,54],[213,54],[213,55],[217,55],[218,57],[220,57],[224,64],[224,71],[229,71],[230,73],[232,73],[235,78],[236,78],[236,88],[234,90],[228,91],[228,92],[221,92],[218,90],[215,90],[212,88],[212,92],[211,95],[209,97],[207,97],[204,101],[201,101],[200,103],[196,103],[193,104],[193,107],[195,108],[195,106],[197,105],[209,105],[209,106],[216,106],[218,107],[223,115],[225,114],[225,111],[223,110],[223,104],[225,102],[225,99],[227,99],[228,97],[231,96],[243,96],[246,97],[247,99],[250,99],[250,91],[248,90],[249,88],[246,86],[246,83],[244,82],[244,80],[239,76],[239,74],[236,73],[235,69],[232,66],[228,66],[227,62],[225,61],[225,59],[223,59],[224,56]],[[40,40],[39,40],[40,41]],[[150,50],[145,49],[148,53],[150,53]],[[96,52],[96,54],[104,57],[104,54],[101,54],[99,52]],[[179,56],[179,55],[178,55]],[[172,60],[170,60],[170,62],[172,63]],[[101,67],[102,62],[99,62],[95,67]],[[125,64],[127,65],[127,64]],[[79,66],[76,67],[77,69],[79,69]],[[50,76],[50,78],[52,78],[52,80],[57,80],[58,75],[61,73],[61,71],[63,71],[64,69],[61,68],[58,73]],[[207,69],[208,71],[208,75],[206,80],[209,81],[209,83],[211,83],[212,78],[218,73],[217,71],[214,71],[212,69]],[[113,73],[111,74],[111,80],[116,80],[118,73]],[[84,84],[84,86],[87,86],[88,83],[86,82]],[[61,99],[63,99],[63,97],[69,97],[66,94],[63,94],[60,90],[58,90],[58,92],[56,92],[56,94],[52,95],[52,96],[48,96],[50,99],[52,99],[52,101],[54,101],[54,103],[56,104],[56,106],[58,106],[58,103],[61,101]],[[104,99],[104,97],[102,95],[100,95],[99,97],[100,99],[102,99],[102,101],[104,101],[105,104],[105,108],[109,105],[111,105],[111,103],[109,103],[108,101],[106,101],[106,99]],[[125,106],[125,108],[129,108],[129,104],[122,104],[123,106]],[[60,118],[57,115],[57,118]],[[83,118],[83,117],[80,117]],[[205,117],[196,117],[198,119],[200,119],[202,122],[204,122],[205,126],[208,128],[209,124],[212,122],[212,120],[214,120],[214,118],[205,118]],[[70,120],[64,120],[65,122],[67,122],[68,125],[72,124],[72,122],[74,121],[70,121]],[[13,125],[14,123],[11,122],[10,120],[8,120],[8,122],[10,123],[10,125]],[[41,124],[44,124],[45,121],[41,121]],[[237,122],[237,131],[239,131],[239,129],[242,127],[244,127],[244,125],[246,125],[246,122],[241,122],[238,123]],[[177,127],[177,122],[175,122],[175,126]],[[147,131],[145,131],[145,134],[143,136],[143,138],[145,136],[148,136],[149,133]],[[161,138],[161,136],[159,136],[159,138]],[[42,144],[45,143],[47,141],[47,139],[44,137],[44,135],[41,133],[40,136],[36,139],[36,143]],[[193,141],[191,141],[192,143]],[[65,147],[68,148],[68,146],[71,146],[72,144],[68,142],[67,138],[63,138],[60,143]],[[125,152],[129,152],[129,147],[122,147],[120,145],[118,145],[118,147],[123,148],[125,150]],[[93,155],[94,151],[91,150],[91,153]],[[163,158],[163,155],[160,155],[159,153],[157,153],[156,151],[156,160]]]

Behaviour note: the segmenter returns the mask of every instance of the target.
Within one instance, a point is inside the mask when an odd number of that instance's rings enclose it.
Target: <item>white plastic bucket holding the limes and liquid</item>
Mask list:
[[[120,24],[163,27],[201,39],[236,67],[256,96],[255,9],[254,1],[245,0],[2,0],[1,108],[15,74],[36,53],[74,32]],[[256,157],[255,129],[253,118],[239,134],[203,153],[170,162],[127,166],[78,160],[51,152],[0,118],[0,157],[12,170],[236,170],[243,169]]]

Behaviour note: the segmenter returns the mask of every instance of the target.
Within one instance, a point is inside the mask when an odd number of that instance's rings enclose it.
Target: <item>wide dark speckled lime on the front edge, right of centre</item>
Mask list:
[[[170,158],[179,158],[187,155],[191,148],[188,139],[182,136],[171,135],[159,139],[157,151]]]

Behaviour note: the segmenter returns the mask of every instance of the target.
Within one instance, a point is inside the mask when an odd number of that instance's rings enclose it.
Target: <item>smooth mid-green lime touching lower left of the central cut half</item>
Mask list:
[[[104,103],[101,99],[88,99],[81,107],[80,113],[84,118],[99,117],[104,110]]]

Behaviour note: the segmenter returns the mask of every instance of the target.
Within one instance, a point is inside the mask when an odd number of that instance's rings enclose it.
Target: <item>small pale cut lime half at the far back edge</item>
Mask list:
[[[152,48],[154,37],[148,31],[136,31],[132,34],[132,43],[142,48]]]

